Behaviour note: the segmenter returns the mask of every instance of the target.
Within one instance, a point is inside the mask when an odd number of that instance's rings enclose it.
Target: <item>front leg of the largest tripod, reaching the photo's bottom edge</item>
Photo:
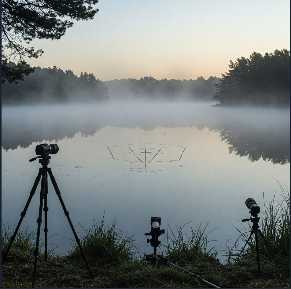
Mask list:
[[[41,188],[40,188],[40,197],[39,197],[39,217],[36,220],[37,222],[37,233],[36,233],[36,244],[35,244],[35,251],[33,253],[34,257],[34,267],[33,267],[33,277],[32,277],[32,288],[34,288],[35,284],[35,275],[36,275],[36,263],[37,263],[37,256],[39,255],[39,236],[40,236],[40,226],[42,223],[42,204],[44,195],[46,192],[46,184],[47,184],[47,178],[46,178],[46,169],[42,169],[42,181],[41,181]]]

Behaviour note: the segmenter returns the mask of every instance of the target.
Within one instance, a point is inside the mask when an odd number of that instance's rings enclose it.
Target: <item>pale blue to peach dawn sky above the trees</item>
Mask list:
[[[93,73],[99,80],[220,77],[230,60],[290,50],[290,1],[100,0],[93,20],[58,41],[34,40],[31,66]]]

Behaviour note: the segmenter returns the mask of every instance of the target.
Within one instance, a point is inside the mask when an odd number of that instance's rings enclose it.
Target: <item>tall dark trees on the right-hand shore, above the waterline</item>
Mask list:
[[[213,100],[221,105],[290,106],[290,51],[253,52],[230,61]]]

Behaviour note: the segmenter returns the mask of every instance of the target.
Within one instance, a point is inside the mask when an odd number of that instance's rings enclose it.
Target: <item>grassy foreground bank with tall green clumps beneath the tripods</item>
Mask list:
[[[251,222],[238,231],[234,246],[227,242],[226,262],[217,258],[217,251],[209,249],[206,227],[192,229],[190,235],[171,230],[174,237],[166,237],[161,252],[171,263],[182,267],[157,263],[152,266],[137,252],[133,237],[116,228],[116,222],[105,225],[104,219],[94,222],[80,236],[83,251],[95,277],[90,274],[80,254],[78,245],[73,245],[68,255],[49,252],[44,262],[40,250],[37,263],[36,287],[207,287],[187,271],[201,276],[219,287],[290,287],[290,190],[279,183],[271,201],[260,205],[260,229],[269,246],[259,236],[261,274],[258,276],[254,237],[244,252],[239,252],[250,235]],[[277,201],[278,194],[281,200]],[[245,217],[249,217],[248,215]],[[13,234],[11,226],[3,225],[2,256]],[[2,287],[31,287],[35,232],[20,230],[2,266]],[[152,248],[153,249],[153,248]]]

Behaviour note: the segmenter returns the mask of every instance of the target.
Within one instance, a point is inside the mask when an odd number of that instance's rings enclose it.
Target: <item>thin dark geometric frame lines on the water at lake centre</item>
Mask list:
[[[150,146],[155,146],[155,145],[158,145],[158,147],[150,147],[148,148],[148,150],[151,150],[151,151],[146,151],[146,145],[150,145]],[[118,159],[116,157],[114,157],[114,152],[112,153],[112,149],[110,150],[110,147],[111,148],[124,148],[124,149],[128,149],[128,152],[129,154],[128,155],[134,155],[135,157],[137,157],[138,161],[134,161],[134,160],[128,160],[128,159]],[[119,161],[130,161],[130,162],[141,162],[141,163],[144,163],[145,164],[145,172],[147,172],[147,168],[146,168],[146,164],[147,163],[155,163],[155,162],[166,162],[166,161],[169,161],[169,162],[172,162],[172,161],[180,161],[181,160],[181,157],[186,149],[186,146],[184,147],[184,150],[182,151],[182,154],[180,156],[179,159],[177,160],[173,160],[173,159],[169,159],[169,160],[164,160],[164,161],[153,161],[153,159],[156,157],[156,156],[159,156],[161,154],[163,154],[163,152],[161,151],[162,149],[169,149],[169,148],[181,148],[182,150],[182,146],[173,146],[173,145],[162,145],[162,144],[156,144],[156,143],[134,143],[134,144],[126,144],[126,145],[117,145],[117,146],[108,146],[108,149],[109,149],[109,152],[112,156],[112,158],[114,160],[119,160]],[[143,150],[144,151],[141,151],[141,152],[138,152],[139,150]],[[157,151],[157,152],[156,152]],[[161,152],[161,153],[160,153]],[[131,154],[132,153],[132,154]],[[125,153],[123,153],[125,154]],[[139,157],[139,156],[142,156],[142,157]],[[149,162],[146,161],[146,158],[147,156],[153,156]],[[172,157],[172,156],[168,156],[168,157]],[[144,161],[141,160],[141,158],[143,159],[144,158]],[[121,169],[121,168],[120,168]],[[123,170],[127,170],[127,169],[123,169]],[[158,171],[167,171],[169,169],[166,169],[166,170],[158,170]],[[127,170],[127,171],[134,171],[134,172],[141,172],[141,171],[135,171],[135,170]],[[152,172],[158,172],[158,171],[152,171]]]

